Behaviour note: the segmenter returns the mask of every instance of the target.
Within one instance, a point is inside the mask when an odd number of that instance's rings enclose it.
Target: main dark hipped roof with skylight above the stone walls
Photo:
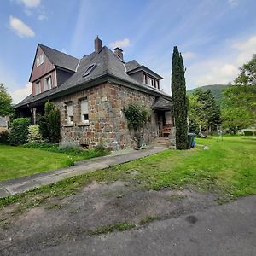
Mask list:
[[[77,71],[73,73],[73,75],[67,79],[64,84],[61,84],[61,86],[55,87],[54,89],[44,91],[36,96],[27,96],[26,99],[15,105],[15,108],[25,106],[26,104],[32,102],[39,102],[48,98],[56,98],[58,96],[67,95],[74,91],[90,88],[93,83],[96,83],[96,80],[107,77],[108,79],[117,79],[120,84],[122,82],[122,84],[126,85],[127,87],[141,90],[155,96],[163,96],[171,99],[171,96],[165,92],[155,89],[154,87],[141,84],[137,82],[137,80],[132,79],[131,76],[126,73],[127,67],[125,67],[125,64],[128,63],[129,62],[124,63],[120,61],[112,50],[104,46],[99,53],[93,52],[90,55],[84,56],[79,61]],[[92,64],[96,64],[96,67],[90,72],[89,75],[83,77],[84,72]]]

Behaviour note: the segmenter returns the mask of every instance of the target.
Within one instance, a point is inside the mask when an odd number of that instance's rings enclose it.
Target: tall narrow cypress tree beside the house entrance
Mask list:
[[[188,99],[186,96],[185,70],[183,57],[177,46],[172,55],[172,102],[176,125],[176,148],[188,148]]]

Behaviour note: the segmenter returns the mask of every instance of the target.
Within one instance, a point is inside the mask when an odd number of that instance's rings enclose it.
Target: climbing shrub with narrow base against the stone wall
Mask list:
[[[128,129],[134,131],[137,149],[142,147],[144,128],[150,117],[148,109],[143,108],[139,103],[132,102],[127,107],[123,108],[125,117],[128,121]]]

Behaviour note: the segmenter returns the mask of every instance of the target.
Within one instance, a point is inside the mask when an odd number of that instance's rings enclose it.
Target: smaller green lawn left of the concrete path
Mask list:
[[[72,166],[74,161],[105,154],[105,152],[94,149],[77,153],[73,150],[64,150],[61,153],[57,151],[57,148],[47,150],[45,148],[0,145],[0,181]]]

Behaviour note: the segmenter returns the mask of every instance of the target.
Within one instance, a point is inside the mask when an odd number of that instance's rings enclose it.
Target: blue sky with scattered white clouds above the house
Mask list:
[[[159,73],[167,93],[176,45],[187,90],[227,84],[256,53],[255,13],[255,0],[1,0],[0,83],[20,102],[38,43],[81,58],[98,35]]]

